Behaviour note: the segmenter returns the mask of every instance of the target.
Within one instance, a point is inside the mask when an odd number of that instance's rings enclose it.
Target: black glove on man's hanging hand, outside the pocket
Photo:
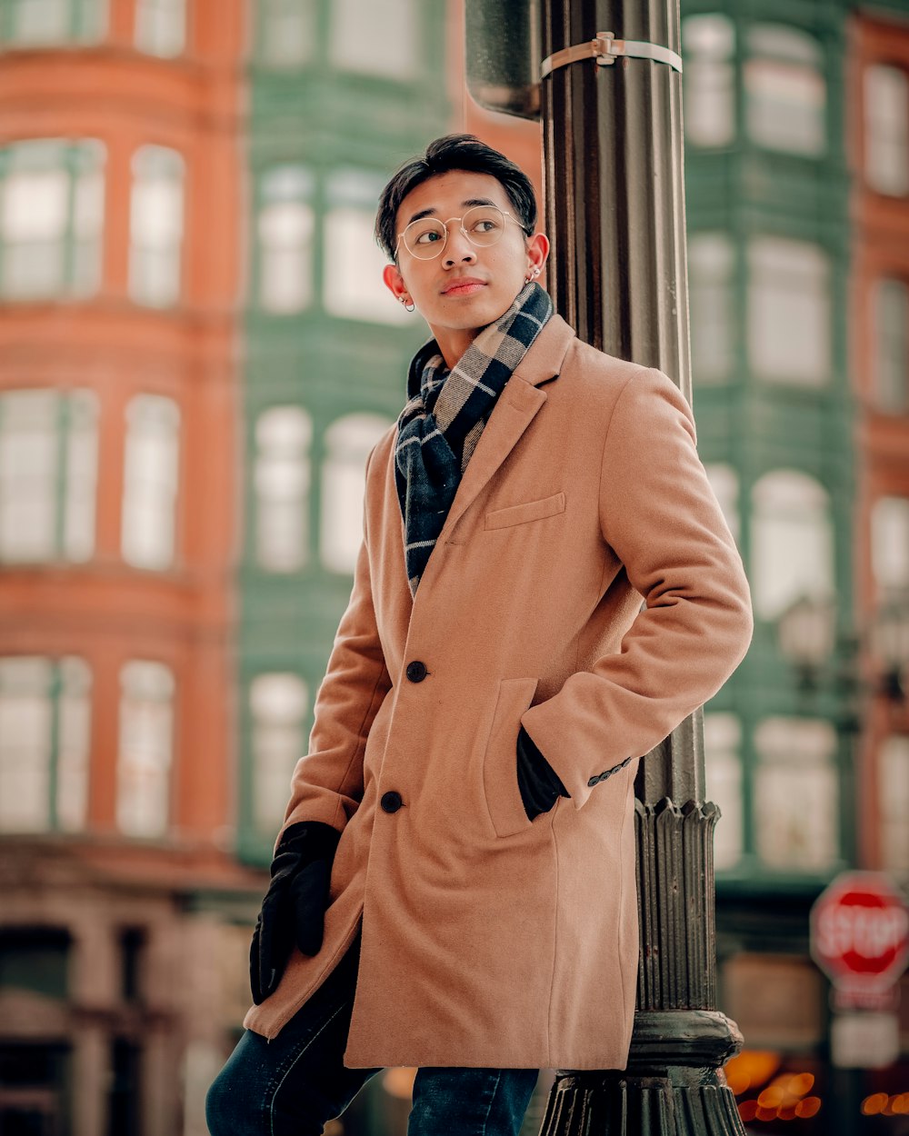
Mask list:
[[[249,951],[249,984],[256,1005],[277,989],[294,943],[303,954],[319,953],[332,861],[340,840],[336,828],[319,820],[291,825],[281,837]]]

